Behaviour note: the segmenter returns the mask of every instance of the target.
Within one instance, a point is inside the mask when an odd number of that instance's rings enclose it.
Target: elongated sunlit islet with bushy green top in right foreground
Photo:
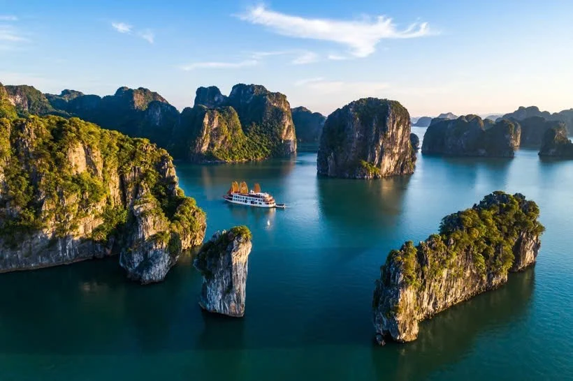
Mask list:
[[[377,338],[416,339],[419,322],[535,263],[544,227],[521,194],[495,192],[442,220],[440,234],[389,253],[372,301]]]

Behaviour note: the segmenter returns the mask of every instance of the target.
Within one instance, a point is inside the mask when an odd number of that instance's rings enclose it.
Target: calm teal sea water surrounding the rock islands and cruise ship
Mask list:
[[[253,232],[245,317],[201,312],[189,258],[145,287],[117,258],[1,274],[0,380],[573,379],[573,161],[419,155],[411,177],[351,181],[318,179],[316,154],[304,153],[177,173],[207,211],[208,236]],[[289,209],[224,204],[234,179]],[[535,268],[424,322],[414,343],[372,345],[386,254],[498,189],[541,207]]]

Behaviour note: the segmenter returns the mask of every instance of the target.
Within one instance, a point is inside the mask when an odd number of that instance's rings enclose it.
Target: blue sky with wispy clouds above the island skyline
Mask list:
[[[412,116],[573,107],[573,1],[0,0],[0,82],[147,87],[180,110],[238,82],[328,114],[365,96]]]

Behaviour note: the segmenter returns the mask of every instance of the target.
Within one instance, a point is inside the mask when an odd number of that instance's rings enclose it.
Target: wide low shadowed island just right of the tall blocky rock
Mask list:
[[[495,124],[477,115],[437,120],[426,130],[422,153],[445,156],[513,157],[519,147],[519,124],[503,119]]]

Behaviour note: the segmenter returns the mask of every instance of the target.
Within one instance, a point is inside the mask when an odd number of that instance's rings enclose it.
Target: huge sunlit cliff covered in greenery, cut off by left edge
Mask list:
[[[75,117],[17,118],[13,103],[0,85],[0,271],[119,254],[151,283],[201,244],[205,214],[164,149]]]

